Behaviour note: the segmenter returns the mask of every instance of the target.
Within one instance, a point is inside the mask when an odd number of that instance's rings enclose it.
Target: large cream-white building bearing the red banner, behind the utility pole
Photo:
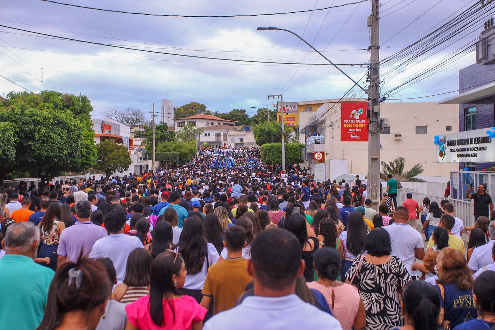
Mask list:
[[[423,175],[448,177],[457,170],[455,163],[437,163],[437,146],[433,137],[438,134],[457,132],[459,109],[457,105],[423,103],[381,103],[382,131],[380,161],[392,162],[403,157],[405,170],[420,163]],[[333,160],[336,166],[347,163],[347,173],[363,174],[368,171],[368,131],[366,99],[328,100],[313,112],[309,118],[300,118],[300,142],[306,144],[303,150],[306,165],[315,165],[315,153],[323,153],[325,176],[335,175],[331,170]],[[306,120],[306,122],[303,122]],[[307,144],[308,135],[318,132],[324,136],[320,144]],[[317,155],[319,156],[319,155]],[[339,163],[340,162],[340,163]]]

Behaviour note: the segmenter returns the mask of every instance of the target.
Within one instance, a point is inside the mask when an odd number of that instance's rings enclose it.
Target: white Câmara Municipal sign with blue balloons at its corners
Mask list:
[[[437,162],[495,162],[495,136],[488,132],[482,128],[436,135]]]

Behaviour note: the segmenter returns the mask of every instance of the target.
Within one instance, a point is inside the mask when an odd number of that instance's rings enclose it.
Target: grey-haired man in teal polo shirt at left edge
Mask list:
[[[31,222],[10,225],[1,241],[0,329],[36,329],[43,319],[55,273],[35,264],[39,242],[40,229]]]

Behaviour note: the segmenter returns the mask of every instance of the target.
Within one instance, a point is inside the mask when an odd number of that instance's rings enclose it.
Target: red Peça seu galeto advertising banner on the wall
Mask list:
[[[341,103],[341,141],[368,141],[367,102]]]

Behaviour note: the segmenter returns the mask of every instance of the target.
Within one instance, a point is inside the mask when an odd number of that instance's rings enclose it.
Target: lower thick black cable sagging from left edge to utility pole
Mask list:
[[[248,62],[248,63],[294,64],[294,65],[301,65],[301,64],[304,64],[304,65],[332,65],[330,63],[299,63],[299,62],[255,61],[255,60],[248,60],[248,59],[220,58],[220,57],[208,57],[208,56],[198,56],[198,55],[186,55],[186,54],[165,53],[165,52],[157,52],[157,51],[149,51],[149,50],[144,50],[144,49],[137,49],[137,48],[132,48],[132,47],[124,47],[124,46],[110,45],[110,44],[104,44],[104,43],[97,43],[97,42],[94,42],[94,41],[87,41],[87,40],[80,40],[80,39],[73,39],[73,38],[55,36],[55,35],[41,33],[41,32],[36,32],[36,31],[30,31],[30,30],[24,30],[24,29],[14,28],[14,27],[11,27],[11,26],[6,26],[6,25],[0,25],[0,27],[4,27],[4,28],[7,28],[7,29],[18,30],[18,31],[29,32],[29,33],[34,33],[34,34],[38,34],[38,35],[42,35],[42,36],[48,36],[48,37],[53,37],[53,38],[62,39],[62,40],[75,41],[75,42],[80,42],[80,43],[85,43],[85,44],[106,46],[106,47],[112,47],[112,48],[118,48],[118,49],[126,49],[126,50],[131,50],[131,51],[138,51],[138,52],[145,52],[145,53],[152,53],[152,54],[174,55],[174,56],[182,56],[182,57],[193,57],[193,58],[203,58],[203,59],[216,59],[216,60],[234,61],[234,62]]]

